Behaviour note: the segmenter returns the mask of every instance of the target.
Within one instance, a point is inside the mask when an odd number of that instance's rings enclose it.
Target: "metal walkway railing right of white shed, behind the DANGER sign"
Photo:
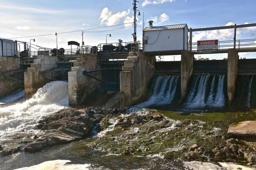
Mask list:
[[[218,49],[215,50],[197,50],[197,42],[192,43],[192,52],[193,51],[221,51],[227,50],[229,48],[234,48],[234,40],[227,41],[218,41]],[[245,39],[245,40],[236,40],[236,49],[251,49],[256,48],[256,39]]]

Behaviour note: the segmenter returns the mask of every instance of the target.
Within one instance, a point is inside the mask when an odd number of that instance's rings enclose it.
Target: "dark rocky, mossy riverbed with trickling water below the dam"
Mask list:
[[[246,120],[256,120],[255,112],[185,113],[146,109],[124,113],[117,108],[68,108],[38,120],[41,134],[20,134],[0,142],[0,155],[35,153],[84,139],[84,146],[109,154],[233,162],[256,167],[256,137],[227,133],[230,125]]]

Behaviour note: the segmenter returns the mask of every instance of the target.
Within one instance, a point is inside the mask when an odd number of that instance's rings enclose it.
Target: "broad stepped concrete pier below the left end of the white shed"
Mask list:
[[[155,56],[130,53],[120,72],[120,107],[128,108],[143,99],[154,76]]]

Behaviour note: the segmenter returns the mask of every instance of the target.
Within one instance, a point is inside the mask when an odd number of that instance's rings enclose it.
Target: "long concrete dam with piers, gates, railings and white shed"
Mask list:
[[[73,51],[72,48],[44,48],[18,53],[14,48],[10,54],[6,53],[10,56],[0,58],[0,97],[24,88],[29,98],[47,82],[63,80],[68,81],[70,106],[80,105],[97,91],[119,91],[117,105],[124,109],[132,105],[138,108],[165,106],[165,109],[175,105],[221,108],[235,103],[254,107],[256,59],[239,59],[239,53],[255,52],[255,44],[235,38],[228,42],[192,42],[193,31],[250,26],[256,24],[188,29],[186,24],[153,27],[149,22],[143,31],[143,43],[119,40],[80,48],[78,42],[68,42],[78,45]],[[17,46],[12,40],[4,41]],[[26,49],[26,42],[23,43]],[[194,57],[218,53],[227,53],[227,59],[201,61]],[[181,55],[181,60],[157,62],[156,57],[160,55]]]

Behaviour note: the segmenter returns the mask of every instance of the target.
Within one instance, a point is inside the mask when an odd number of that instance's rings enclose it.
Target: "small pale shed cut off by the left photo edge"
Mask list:
[[[0,39],[0,57],[13,57],[15,55],[15,42],[13,40]]]

